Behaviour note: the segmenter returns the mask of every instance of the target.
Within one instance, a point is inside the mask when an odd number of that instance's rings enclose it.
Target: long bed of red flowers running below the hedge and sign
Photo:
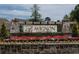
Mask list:
[[[56,35],[56,36],[11,36],[11,40],[47,40],[47,39],[67,39],[69,37]],[[79,39],[79,37],[71,37],[70,39]]]

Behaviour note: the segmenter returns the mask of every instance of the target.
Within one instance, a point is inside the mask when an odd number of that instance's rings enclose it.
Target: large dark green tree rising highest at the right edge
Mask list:
[[[71,11],[71,13],[70,13],[70,20],[71,21],[76,21],[75,27],[77,29],[75,31],[77,31],[78,34],[79,34],[79,4],[76,5],[75,8],[74,8],[74,10]]]

